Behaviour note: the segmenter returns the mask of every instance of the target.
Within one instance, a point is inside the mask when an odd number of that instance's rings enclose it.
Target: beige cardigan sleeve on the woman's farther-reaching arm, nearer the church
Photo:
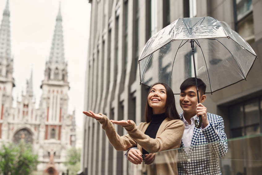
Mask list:
[[[131,147],[137,147],[135,140],[128,134],[119,136],[115,130],[114,124],[110,122],[105,115],[102,115],[102,118],[97,121],[102,125],[102,129],[105,130],[109,142],[117,151],[127,151]]]

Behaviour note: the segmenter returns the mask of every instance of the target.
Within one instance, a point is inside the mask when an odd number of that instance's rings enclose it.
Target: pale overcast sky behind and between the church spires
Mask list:
[[[49,57],[59,0],[9,0],[11,55],[14,57],[16,98],[25,93],[26,80],[33,71],[36,107],[42,94],[45,61]],[[0,20],[6,0],[0,0]],[[88,0],[61,0],[65,60],[68,62],[70,85],[68,112],[75,109],[76,125],[83,128],[84,78],[89,37],[91,4]]]

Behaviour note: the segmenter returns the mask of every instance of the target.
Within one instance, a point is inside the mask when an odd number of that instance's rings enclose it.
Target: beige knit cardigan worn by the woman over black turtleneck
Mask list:
[[[113,123],[105,115],[98,121],[102,124],[102,128],[105,130],[110,143],[116,150],[127,151],[131,147],[137,147],[141,153],[142,147],[149,153],[179,148],[185,128],[182,120],[170,120],[166,118],[160,125],[154,139],[144,134],[150,122],[140,123],[137,127],[135,122],[131,120],[132,125],[124,127],[128,134],[120,137],[116,133]],[[174,153],[175,151],[171,152]],[[170,157],[175,161],[166,160],[166,164],[157,164],[158,175],[178,174],[177,154],[172,154]]]

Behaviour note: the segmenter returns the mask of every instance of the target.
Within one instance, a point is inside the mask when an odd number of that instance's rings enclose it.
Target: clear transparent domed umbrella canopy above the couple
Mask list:
[[[192,53],[191,42],[194,42]],[[193,55],[194,54],[194,55]],[[180,94],[181,83],[195,77],[206,93],[246,79],[256,53],[228,24],[212,17],[179,18],[153,35],[140,55],[140,83],[169,85]]]

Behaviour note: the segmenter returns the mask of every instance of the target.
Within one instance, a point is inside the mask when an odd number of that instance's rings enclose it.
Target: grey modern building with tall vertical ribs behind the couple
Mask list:
[[[140,85],[138,58],[148,39],[181,17],[211,16],[225,21],[255,50],[247,81],[213,95],[204,105],[221,115],[228,138],[262,132],[261,0],[89,0],[92,4],[85,79],[85,110],[110,119],[144,121],[148,88]],[[181,112],[175,95],[178,111]],[[126,131],[116,126],[117,132]],[[124,152],[116,151],[100,124],[84,119],[81,168],[84,174],[128,174]],[[254,144],[261,146],[260,141]],[[243,151],[240,147],[238,151]],[[244,166],[243,166],[244,167]],[[242,168],[243,168],[242,167]],[[239,170],[242,172],[244,170]]]

